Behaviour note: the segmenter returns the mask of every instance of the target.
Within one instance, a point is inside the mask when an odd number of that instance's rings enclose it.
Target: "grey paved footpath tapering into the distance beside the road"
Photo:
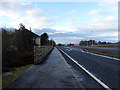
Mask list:
[[[8,88],[82,88],[67,62],[54,48],[40,65],[33,65]]]

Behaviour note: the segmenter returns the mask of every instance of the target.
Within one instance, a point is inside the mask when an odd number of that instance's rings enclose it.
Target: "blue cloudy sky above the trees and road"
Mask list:
[[[117,42],[118,2],[0,2],[0,27],[18,29],[20,23],[57,44]]]

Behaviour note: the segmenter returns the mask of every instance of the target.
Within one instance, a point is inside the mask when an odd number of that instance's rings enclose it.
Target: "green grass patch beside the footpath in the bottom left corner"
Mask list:
[[[15,78],[17,78],[21,73],[28,69],[32,64],[18,67],[18,68],[3,68],[6,72],[11,72],[9,76],[2,76],[2,88],[7,87]]]

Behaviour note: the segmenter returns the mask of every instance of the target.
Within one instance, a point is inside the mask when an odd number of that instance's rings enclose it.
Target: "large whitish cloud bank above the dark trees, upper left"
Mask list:
[[[48,28],[54,23],[52,22],[53,18],[48,18],[49,14],[46,10],[31,3],[5,2],[1,3],[1,5],[0,17],[8,19],[5,26],[18,28],[19,23],[25,23],[27,27],[42,29]],[[57,17],[55,18],[57,19]],[[10,20],[11,22],[8,22]]]

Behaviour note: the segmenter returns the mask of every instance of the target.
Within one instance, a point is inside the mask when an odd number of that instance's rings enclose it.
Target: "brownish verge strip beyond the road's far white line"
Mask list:
[[[108,49],[95,49],[95,48],[82,48],[85,51],[93,52],[96,54],[111,56],[115,58],[120,58],[117,50],[108,50]]]

